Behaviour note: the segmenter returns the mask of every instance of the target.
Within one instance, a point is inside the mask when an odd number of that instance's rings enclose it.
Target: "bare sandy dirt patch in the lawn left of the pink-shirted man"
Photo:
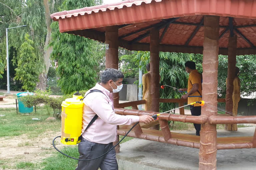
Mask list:
[[[41,162],[56,152],[52,146],[54,137],[59,136],[60,132],[48,131],[36,139],[29,139],[27,135],[17,137],[0,138],[0,160],[9,167],[15,166],[17,162]],[[56,147],[61,148],[59,140],[56,140]],[[1,168],[0,168],[1,169]],[[14,169],[5,169],[14,170]]]

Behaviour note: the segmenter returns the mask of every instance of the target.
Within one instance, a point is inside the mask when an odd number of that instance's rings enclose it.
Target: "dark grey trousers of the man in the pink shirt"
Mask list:
[[[79,159],[92,159],[106,153],[113,147],[113,142],[109,144],[95,143],[82,138],[78,144],[80,153]],[[116,161],[116,151],[112,149],[106,155],[91,161],[78,161],[76,170],[118,170]]]

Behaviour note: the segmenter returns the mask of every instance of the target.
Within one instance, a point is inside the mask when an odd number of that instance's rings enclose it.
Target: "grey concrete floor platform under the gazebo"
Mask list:
[[[253,136],[255,127],[237,132],[217,129],[218,137]],[[175,131],[194,134],[195,131]],[[117,154],[119,170],[198,170],[199,149],[134,138],[122,143]],[[255,170],[256,148],[217,151],[217,169]]]

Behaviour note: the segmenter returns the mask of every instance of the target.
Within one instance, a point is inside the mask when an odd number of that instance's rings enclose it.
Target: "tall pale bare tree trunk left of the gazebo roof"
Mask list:
[[[46,89],[46,84],[47,84],[47,74],[49,71],[49,68],[51,66],[51,60],[50,60],[50,55],[52,52],[52,46],[48,47],[50,41],[51,41],[51,12],[49,8],[49,3],[48,0],[44,0],[44,7],[45,7],[45,21],[46,21],[46,27],[47,27],[47,34],[46,34],[46,39],[44,43],[44,65],[45,68],[43,72],[39,75],[39,83],[37,84],[37,88],[40,90],[45,90]]]

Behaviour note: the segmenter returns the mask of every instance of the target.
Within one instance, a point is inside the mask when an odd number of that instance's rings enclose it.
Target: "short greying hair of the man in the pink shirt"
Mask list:
[[[124,78],[121,71],[114,68],[107,68],[102,72],[101,83],[106,84],[109,80],[113,80],[115,82],[120,78]]]

